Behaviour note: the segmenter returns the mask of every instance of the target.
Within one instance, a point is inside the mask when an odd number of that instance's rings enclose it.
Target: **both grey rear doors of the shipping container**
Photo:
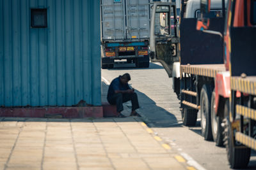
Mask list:
[[[150,1],[101,0],[102,39],[128,40],[150,37]]]

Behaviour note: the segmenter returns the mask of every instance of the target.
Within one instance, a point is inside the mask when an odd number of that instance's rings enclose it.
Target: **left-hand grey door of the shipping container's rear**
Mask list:
[[[102,39],[126,39],[125,0],[101,0]]]

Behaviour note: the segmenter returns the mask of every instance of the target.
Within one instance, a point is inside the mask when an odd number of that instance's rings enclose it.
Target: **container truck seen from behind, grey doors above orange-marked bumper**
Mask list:
[[[101,0],[102,69],[126,60],[136,67],[148,67],[150,1]]]

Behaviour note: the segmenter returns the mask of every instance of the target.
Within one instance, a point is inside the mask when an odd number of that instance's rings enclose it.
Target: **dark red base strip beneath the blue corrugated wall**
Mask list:
[[[32,118],[102,118],[102,106],[49,107],[49,108],[0,108],[0,117]]]

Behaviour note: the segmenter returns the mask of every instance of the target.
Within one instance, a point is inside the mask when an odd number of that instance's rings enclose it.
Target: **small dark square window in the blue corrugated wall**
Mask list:
[[[31,27],[47,27],[47,9],[31,9]]]

